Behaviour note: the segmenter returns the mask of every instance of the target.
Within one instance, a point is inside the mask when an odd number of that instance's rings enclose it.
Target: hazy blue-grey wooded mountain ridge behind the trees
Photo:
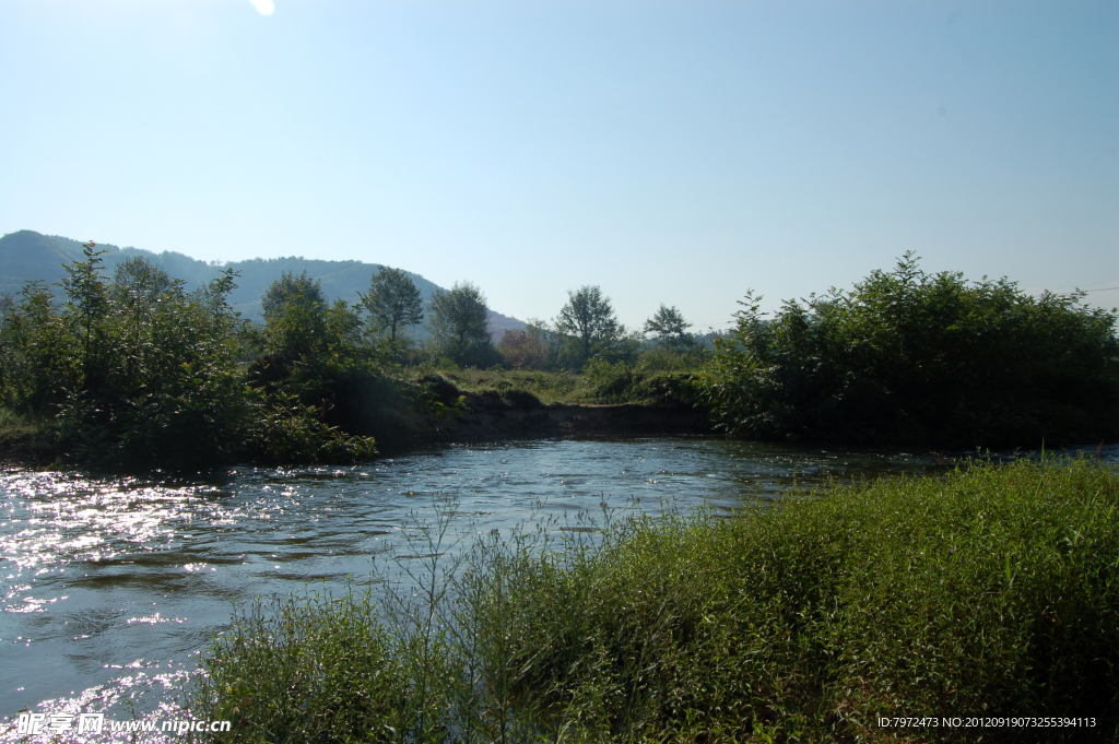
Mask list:
[[[280,274],[290,271],[295,274],[307,272],[322,282],[322,291],[328,298],[341,298],[348,302],[357,302],[357,293],[369,289],[369,280],[380,269],[380,264],[367,264],[360,261],[317,261],[313,258],[253,258],[229,264],[206,263],[181,253],[152,253],[140,248],[97,244],[98,248],[107,251],[104,257],[105,274],[112,277],[116,264],[129,256],[143,256],[152,263],[162,266],[167,273],[187,283],[187,289],[195,289],[215,279],[223,269],[241,272],[237,276],[237,289],[229,296],[234,309],[253,321],[261,319],[261,296]],[[82,243],[68,237],[40,235],[32,230],[19,230],[0,237],[0,293],[16,294],[29,281],[44,280],[48,284],[60,282],[66,272],[63,264],[82,257]],[[423,294],[426,303],[432,293],[440,289],[420,274],[406,272]],[[507,329],[524,329],[525,323],[502,316],[490,313],[490,332],[500,339]]]

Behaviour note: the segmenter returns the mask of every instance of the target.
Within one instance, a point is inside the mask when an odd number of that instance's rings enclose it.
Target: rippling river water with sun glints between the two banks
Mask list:
[[[603,505],[615,515],[669,503],[730,511],[744,495],[775,498],[794,483],[948,467],[931,454],[647,437],[470,444],[191,482],[6,473],[0,721],[20,710],[172,715],[235,608],[367,578],[375,555],[407,549],[408,525],[433,518],[436,496],[457,501],[452,526],[468,545],[526,522],[570,528]],[[0,723],[0,741],[17,738]]]

